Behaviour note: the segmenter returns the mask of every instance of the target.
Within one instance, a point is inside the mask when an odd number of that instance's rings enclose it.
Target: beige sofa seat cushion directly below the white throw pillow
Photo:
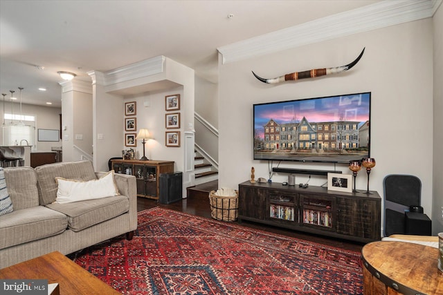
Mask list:
[[[66,204],[53,203],[46,207],[64,213],[68,216],[69,229],[81,231],[129,211],[129,199],[127,196],[114,196]]]

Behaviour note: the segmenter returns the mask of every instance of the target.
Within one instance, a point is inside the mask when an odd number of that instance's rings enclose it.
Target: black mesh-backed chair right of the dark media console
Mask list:
[[[405,234],[405,211],[420,206],[422,182],[413,175],[390,174],[383,180],[385,236]]]

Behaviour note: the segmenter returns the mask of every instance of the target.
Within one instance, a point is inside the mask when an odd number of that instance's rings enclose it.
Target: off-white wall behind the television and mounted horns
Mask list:
[[[354,60],[363,47],[366,50],[359,64],[340,75],[272,86],[259,82],[251,73],[254,70],[262,77],[271,78],[311,68],[341,66]],[[432,19],[224,65],[220,57],[219,186],[236,188],[240,182],[248,180],[251,166],[255,167],[256,178],[268,178],[268,162],[253,160],[253,104],[365,91],[372,92],[371,156],[377,160],[377,166],[370,175],[370,189],[378,191],[383,197],[383,178],[386,175],[417,175],[422,180],[422,206],[431,216]],[[280,167],[334,168],[331,164],[296,162],[282,162]],[[346,165],[337,165],[337,168],[350,174]],[[286,181],[287,174],[275,174],[272,180]],[[302,176],[300,180],[303,180]],[[321,185],[325,181],[325,178],[313,178],[309,183]],[[365,173],[359,173],[356,186],[357,189],[365,189]]]

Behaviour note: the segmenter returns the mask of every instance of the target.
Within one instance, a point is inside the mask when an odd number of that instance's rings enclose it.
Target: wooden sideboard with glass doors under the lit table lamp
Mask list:
[[[116,173],[134,175],[137,180],[137,196],[159,200],[159,176],[173,173],[174,161],[111,160]]]

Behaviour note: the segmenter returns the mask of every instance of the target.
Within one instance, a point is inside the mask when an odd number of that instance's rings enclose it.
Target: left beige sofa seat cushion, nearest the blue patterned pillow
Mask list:
[[[61,234],[68,227],[64,214],[36,206],[0,216],[0,249]]]

